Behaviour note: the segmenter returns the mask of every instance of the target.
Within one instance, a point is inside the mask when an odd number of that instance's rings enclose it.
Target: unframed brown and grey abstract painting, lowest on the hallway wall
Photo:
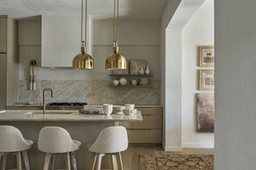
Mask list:
[[[197,94],[197,132],[214,132],[214,93]]]

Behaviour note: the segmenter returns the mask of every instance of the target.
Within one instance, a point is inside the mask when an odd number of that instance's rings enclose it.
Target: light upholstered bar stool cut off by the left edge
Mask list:
[[[14,154],[17,159],[17,169],[22,170],[22,156],[26,170],[30,170],[30,163],[26,150],[30,149],[32,140],[25,140],[22,132],[10,125],[0,125],[0,160],[2,158],[2,170],[6,169],[7,155]]]

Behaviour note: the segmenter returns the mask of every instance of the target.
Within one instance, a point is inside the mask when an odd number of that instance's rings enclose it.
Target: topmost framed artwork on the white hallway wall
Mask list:
[[[214,46],[202,45],[198,47],[198,50],[199,50],[199,66],[214,67]]]

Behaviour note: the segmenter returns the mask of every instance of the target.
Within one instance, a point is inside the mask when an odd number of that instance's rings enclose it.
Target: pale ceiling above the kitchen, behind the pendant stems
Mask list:
[[[170,0],[119,0],[119,15],[129,19],[160,19]],[[88,0],[94,19],[113,17],[114,0]],[[26,18],[44,14],[76,14],[81,0],[0,0],[0,14]]]

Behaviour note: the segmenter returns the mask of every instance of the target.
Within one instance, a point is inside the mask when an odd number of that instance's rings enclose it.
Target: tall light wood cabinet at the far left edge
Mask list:
[[[17,32],[17,22],[0,15],[0,110],[17,102],[18,98]]]

